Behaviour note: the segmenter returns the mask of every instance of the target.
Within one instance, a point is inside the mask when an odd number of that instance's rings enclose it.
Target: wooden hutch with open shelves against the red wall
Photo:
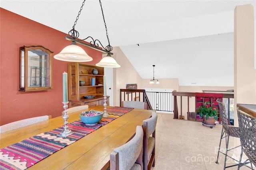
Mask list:
[[[92,69],[97,69],[98,74],[92,74]],[[69,107],[89,105],[89,107],[104,104],[104,67],[91,64],[68,63],[68,98]],[[92,86],[92,78],[95,78],[95,86]],[[80,86],[79,81],[84,81]],[[95,96],[84,98],[84,96]],[[109,97],[108,97],[109,98]],[[107,100],[107,104],[108,104]]]

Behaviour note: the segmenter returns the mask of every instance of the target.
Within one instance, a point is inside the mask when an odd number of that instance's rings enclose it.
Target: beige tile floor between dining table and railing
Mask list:
[[[173,119],[173,114],[158,113],[156,125],[156,164],[153,170],[222,170],[224,154],[216,164],[222,125],[212,129],[200,122]],[[221,149],[225,150],[224,140]],[[240,145],[230,137],[229,148]],[[240,156],[240,147],[229,155]],[[246,158],[246,157],[245,157]],[[244,159],[244,158],[243,158]],[[227,165],[234,164],[227,160]],[[236,170],[237,166],[228,168]],[[255,169],[255,168],[254,168]],[[249,170],[241,167],[240,170]]]

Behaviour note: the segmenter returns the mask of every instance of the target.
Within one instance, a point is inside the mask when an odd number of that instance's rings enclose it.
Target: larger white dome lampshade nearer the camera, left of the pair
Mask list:
[[[84,49],[79,47],[75,41],[72,41],[71,45],[68,45],[60,53],[54,55],[54,59],[70,62],[92,61],[92,57],[86,54]]]

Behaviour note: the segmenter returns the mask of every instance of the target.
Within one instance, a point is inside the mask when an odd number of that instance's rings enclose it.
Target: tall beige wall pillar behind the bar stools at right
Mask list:
[[[251,4],[234,10],[234,98],[236,104],[256,104],[254,69],[254,9]],[[235,109],[235,126],[238,126]]]

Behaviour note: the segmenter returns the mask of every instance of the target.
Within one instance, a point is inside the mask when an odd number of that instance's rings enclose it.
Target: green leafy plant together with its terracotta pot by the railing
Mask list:
[[[214,106],[214,103],[210,104],[209,101],[200,103],[202,103],[202,106],[199,106],[196,112],[199,113],[200,118],[204,118],[205,124],[214,125],[218,119],[219,109]]]

